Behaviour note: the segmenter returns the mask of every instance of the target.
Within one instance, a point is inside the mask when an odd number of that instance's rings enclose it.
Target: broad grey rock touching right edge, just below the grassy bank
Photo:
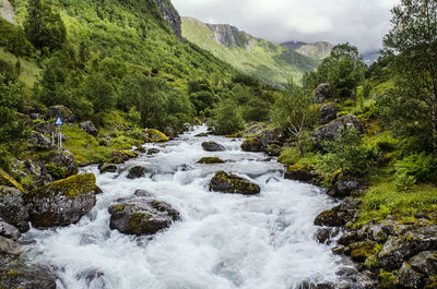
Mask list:
[[[397,269],[413,255],[429,251],[437,245],[437,226],[421,227],[403,236],[390,236],[378,257],[388,269]]]

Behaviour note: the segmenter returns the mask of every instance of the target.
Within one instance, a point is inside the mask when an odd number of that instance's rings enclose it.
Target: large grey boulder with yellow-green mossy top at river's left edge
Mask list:
[[[25,195],[32,224],[37,228],[78,222],[101,193],[94,173],[76,174],[47,184]]]

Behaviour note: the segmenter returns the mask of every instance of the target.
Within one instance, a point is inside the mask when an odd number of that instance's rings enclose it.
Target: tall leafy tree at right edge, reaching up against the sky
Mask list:
[[[385,101],[397,112],[397,121],[403,122],[397,125],[400,133],[408,127],[410,135],[423,134],[437,153],[437,1],[401,0],[392,10],[391,23],[383,46],[386,52],[397,55],[397,77],[392,99]]]

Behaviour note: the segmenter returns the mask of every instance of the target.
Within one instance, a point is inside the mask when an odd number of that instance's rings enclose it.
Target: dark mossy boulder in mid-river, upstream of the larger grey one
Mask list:
[[[210,191],[228,194],[255,195],[261,192],[258,184],[235,174],[218,171],[210,181]]]

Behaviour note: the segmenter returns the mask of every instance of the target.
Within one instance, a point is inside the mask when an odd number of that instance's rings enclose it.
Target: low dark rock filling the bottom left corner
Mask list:
[[[0,267],[0,288],[56,289],[56,279],[55,274],[43,267]]]

